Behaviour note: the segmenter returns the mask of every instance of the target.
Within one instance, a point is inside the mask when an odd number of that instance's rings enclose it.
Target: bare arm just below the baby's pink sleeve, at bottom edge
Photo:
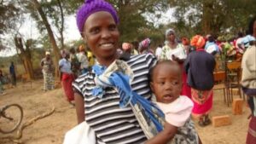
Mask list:
[[[150,140],[146,141],[146,144],[166,144],[171,141],[174,135],[177,133],[177,127],[166,123],[164,126],[164,130],[159,134],[155,135]]]

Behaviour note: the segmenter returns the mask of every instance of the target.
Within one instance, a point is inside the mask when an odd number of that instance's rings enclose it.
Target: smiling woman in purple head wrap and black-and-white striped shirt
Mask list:
[[[117,60],[118,23],[113,6],[103,0],[87,0],[77,13],[79,32],[96,56],[96,66],[102,69]],[[147,99],[151,98],[148,71],[155,62],[153,55],[134,55],[125,61],[134,74],[131,89]],[[79,124],[85,120],[90,125],[96,133],[96,143],[136,144],[147,141],[131,107],[119,107],[120,95],[115,89],[106,87],[101,96],[92,94],[97,88],[95,78],[96,71],[93,70],[73,83]]]

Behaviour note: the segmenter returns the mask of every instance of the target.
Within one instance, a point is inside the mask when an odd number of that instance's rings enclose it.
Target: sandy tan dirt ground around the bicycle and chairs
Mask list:
[[[62,89],[44,92],[43,80],[30,83],[18,83],[15,89],[6,89],[7,95],[0,95],[0,107],[18,103],[23,107],[23,123],[38,115],[49,112],[55,107],[55,112],[46,118],[39,119],[34,124],[23,130],[24,144],[61,144],[67,130],[77,124],[75,108],[65,100]],[[236,95],[234,98],[238,98]],[[201,128],[196,124],[196,129],[204,144],[244,144],[247,135],[247,117],[249,109],[244,102],[242,115],[233,115],[232,108],[224,104],[222,91],[214,91],[212,116],[229,115],[231,125],[214,128],[211,125]],[[1,126],[1,125],[0,125]],[[13,133],[12,135],[15,135]],[[1,144],[12,144],[13,141],[3,139],[0,133]]]

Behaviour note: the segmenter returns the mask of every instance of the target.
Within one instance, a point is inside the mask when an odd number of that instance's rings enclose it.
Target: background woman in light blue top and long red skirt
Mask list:
[[[69,54],[67,50],[61,51],[62,59],[59,61],[59,69],[61,72],[61,83],[64,89],[65,95],[67,96],[67,101],[73,104],[74,101],[74,93],[72,88],[72,83],[74,80],[73,72],[71,70],[71,62],[69,59]]]

